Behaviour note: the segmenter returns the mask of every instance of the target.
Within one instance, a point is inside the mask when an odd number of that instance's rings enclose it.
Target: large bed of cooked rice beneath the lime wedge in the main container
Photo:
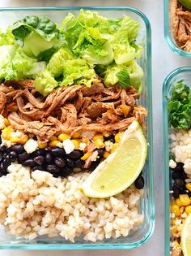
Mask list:
[[[89,176],[82,172],[65,179],[46,171],[12,163],[0,178],[0,223],[15,236],[34,239],[38,235],[76,236],[96,242],[128,236],[143,220],[138,202],[143,189],[134,185],[115,197],[89,198],[79,184]]]

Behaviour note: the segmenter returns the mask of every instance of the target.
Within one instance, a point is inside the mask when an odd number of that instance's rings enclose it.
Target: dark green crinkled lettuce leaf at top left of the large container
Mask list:
[[[23,20],[18,20],[12,26],[12,33],[15,39],[22,41],[23,51],[29,57],[47,58],[47,50],[57,50],[65,43],[62,33],[57,28],[57,24],[44,16],[26,16]]]

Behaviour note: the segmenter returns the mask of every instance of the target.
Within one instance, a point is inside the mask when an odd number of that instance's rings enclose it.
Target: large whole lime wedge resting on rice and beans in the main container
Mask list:
[[[127,189],[144,167],[146,139],[138,121],[124,132],[117,150],[91,172],[80,188],[87,197],[111,197]]]

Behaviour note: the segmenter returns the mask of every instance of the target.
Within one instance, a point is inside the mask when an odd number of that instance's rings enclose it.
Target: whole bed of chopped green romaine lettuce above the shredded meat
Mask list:
[[[61,28],[47,17],[26,16],[0,32],[0,80],[36,79],[44,96],[61,85],[91,86],[98,76],[106,86],[141,91],[139,28],[129,16],[111,20],[93,11],[69,13]]]

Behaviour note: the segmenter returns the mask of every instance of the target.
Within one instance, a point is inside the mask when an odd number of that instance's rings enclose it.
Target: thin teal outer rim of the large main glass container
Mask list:
[[[112,244],[4,244],[0,245],[0,249],[134,249],[143,245],[153,234],[155,229],[155,193],[154,193],[154,168],[153,168],[153,122],[152,122],[152,88],[151,88],[151,24],[146,15],[134,7],[1,7],[1,11],[79,11],[90,10],[90,11],[131,11],[142,18],[146,25],[146,80],[147,80],[147,93],[148,93],[148,155],[151,161],[149,161],[149,191],[150,197],[148,198],[148,206],[151,209],[151,219],[149,229],[141,240],[134,242],[133,244],[128,243],[112,243]]]

